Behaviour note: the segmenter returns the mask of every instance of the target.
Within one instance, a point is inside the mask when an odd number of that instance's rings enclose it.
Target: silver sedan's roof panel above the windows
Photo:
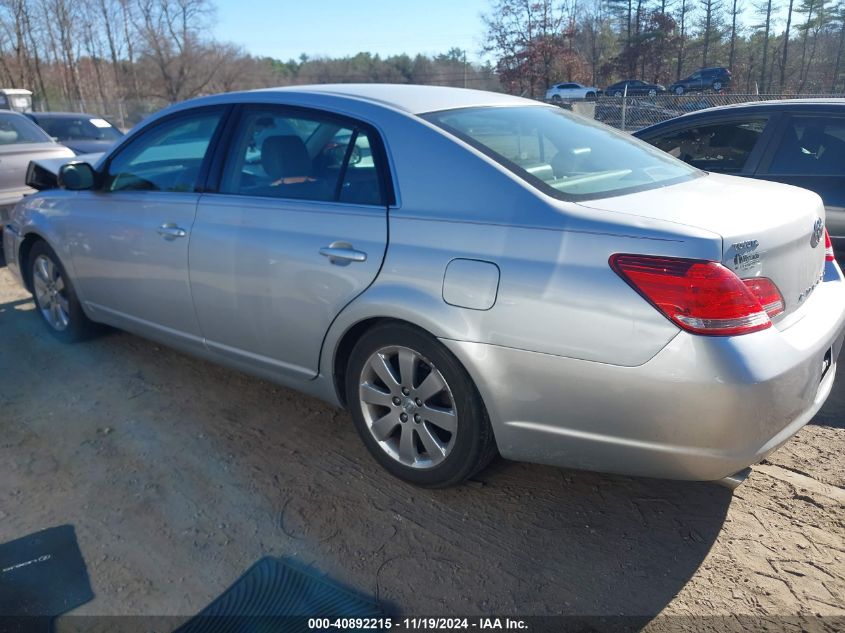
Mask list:
[[[451,88],[447,86],[420,86],[416,84],[316,84],[307,86],[285,86],[264,88],[245,92],[232,92],[225,95],[192,100],[191,105],[203,101],[217,103],[237,103],[256,93],[278,93],[284,95],[327,95],[353,101],[366,101],[411,114],[423,114],[456,108],[483,106],[545,106],[533,99],[514,97],[499,92]]]

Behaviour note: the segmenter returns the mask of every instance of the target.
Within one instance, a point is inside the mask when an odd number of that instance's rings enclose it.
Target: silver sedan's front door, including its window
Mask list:
[[[201,174],[221,107],[180,113],[142,131],[71,203],[75,281],[97,320],[202,347],[188,283]]]

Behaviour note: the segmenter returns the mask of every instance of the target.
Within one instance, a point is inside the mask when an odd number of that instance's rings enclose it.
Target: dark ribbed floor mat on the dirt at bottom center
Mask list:
[[[305,633],[314,630],[309,618],[384,617],[371,598],[295,561],[266,557],[174,633]]]

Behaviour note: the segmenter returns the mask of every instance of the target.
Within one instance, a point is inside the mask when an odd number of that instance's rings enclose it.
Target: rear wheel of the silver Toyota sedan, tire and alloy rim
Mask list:
[[[364,445],[386,470],[418,486],[458,484],[496,455],[481,396],[434,337],[386,323],[356,343],[346,401]]]

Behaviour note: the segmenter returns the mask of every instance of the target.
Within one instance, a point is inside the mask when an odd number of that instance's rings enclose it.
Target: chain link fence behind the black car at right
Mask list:
[[[842,97],[842,95],[756,95],[703,93],[654,97],[600,96],[594,101],[572,101],[559,104],[582,116],[593,118],[623,131],[633,132],[688,112],[716,106],[748,103],[749,101],[772,101],[776,99],[807,99]]]

